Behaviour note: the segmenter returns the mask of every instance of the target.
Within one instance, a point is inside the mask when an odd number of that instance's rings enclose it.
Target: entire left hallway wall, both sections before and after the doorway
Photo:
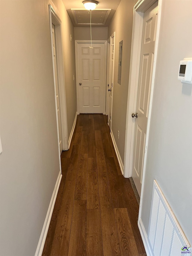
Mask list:
[[[76,112],[73,26],[60,0],[68,132]],[[48,0],[0,1],[0,255],[34,255],[59,173]],[[72,34],[73,41],[70,41]]]

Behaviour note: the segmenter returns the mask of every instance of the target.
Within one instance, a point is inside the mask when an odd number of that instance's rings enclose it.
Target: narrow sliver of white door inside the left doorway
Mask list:
[[[63,150],[62,142],[62,128],[61,128],[61,107],[59,99],[59,85],[58,85],[58,72],[57,72],[57,56],[56,56],[56,43],[55,43],[55,26],[52,24],[52,37],[53,37],[53,57],[54,57],[54,72],[55,72],[55,85],[57,97],[57,116],[58,116],[58,132],[59,132],[59,148],[60,155]]]

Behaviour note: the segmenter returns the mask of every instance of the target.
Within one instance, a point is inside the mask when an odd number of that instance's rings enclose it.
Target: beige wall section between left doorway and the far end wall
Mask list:
[[[74,29],[63,2],[61,0],[50,0],[49,4],[52,5],[62,22],[67,128],[69,138],[76,114],[76,83],[75,80],[73,81],[73,75],[75,77]],[[70,35],[72,40],[70,40]]]

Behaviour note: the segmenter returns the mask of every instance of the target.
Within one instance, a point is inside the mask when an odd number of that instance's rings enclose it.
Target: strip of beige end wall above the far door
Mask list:
[[[107,40],[107,27],[92,27],[92,40]],[[91,40],[90,27],[74,27],[75,40]]]

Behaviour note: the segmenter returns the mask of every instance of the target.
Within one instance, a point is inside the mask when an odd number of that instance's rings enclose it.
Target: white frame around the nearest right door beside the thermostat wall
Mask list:
[[[135,119],[132,118],[131,114],[135,113],[136,104],[137,104],[137,89],[138,89],[139,67],[140,67],[140,50],[138,49],[141,49],[141,40],[142,40],[142,31],[143,31],[143,14],[156,1],[157,0],[139,0],[137,4],[134,6],[133,32],[132,32],[132,42],[131,42],[131,63],[130,63],[126,134],[125,134],[125,155],[124,155],[124,159],[125,159],[124,176],[126,178],[131,177],[132,175]],[[146,145],[145,145],[144,162],[143,162],[143,178],[142,178],[140,206],[141,206],[142,197],[143,197],[143,182],[144,182],[145,168],[146,168],[149,125],[150,125],[150,118],[151,118],[152,96],[153,96],[153,88],[154,88],[155,68],[156,68],[156,59],[157,59],[157,50],[158,50],[158,38],[159,38],[159,30],[160,30],[161,5],[162,5],[162,0],[159,0],[157,32],[156,32],[155,51],[154,51],[154,65],[153,65],[153,71],[152,71],[151,95],[149,99],[149,115],[148,115],[148,122],[147,122]]]

